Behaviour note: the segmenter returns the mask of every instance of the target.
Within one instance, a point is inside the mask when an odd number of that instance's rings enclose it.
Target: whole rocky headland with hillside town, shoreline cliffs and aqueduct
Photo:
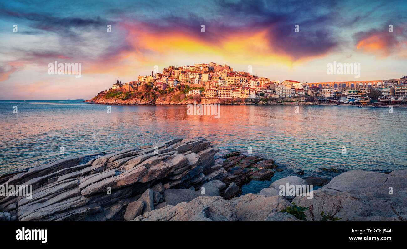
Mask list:
[[[113,86],[88,100],[92,103],[187,104],[193,103],[285,103],[290,101],[331,103],[341,98],[378,99],[407,97],[407,77],[363,82],[283,82],[234,71],[227,64],[201,63],[170,66],[162,73],[138,76]]]

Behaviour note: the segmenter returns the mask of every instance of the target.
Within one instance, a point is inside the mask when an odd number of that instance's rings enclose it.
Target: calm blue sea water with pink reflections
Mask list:
[[[13,106],[18,113],[13,114]],[[175,137],[203,136],[221,149],[246,150],[284,171],[333,177],[320,167],[392,171],[407,165],[407,109],[345,106],[222,105],[221,117],[187,115],[186,106],[120,106],[79,101],[0,101],[0,174],[69,155],[90,155]],[[63,146],[65,154],[60,154]],[[342,153],[346,147],[346,154]],[[270,181],[252,181],[257,193]]]

